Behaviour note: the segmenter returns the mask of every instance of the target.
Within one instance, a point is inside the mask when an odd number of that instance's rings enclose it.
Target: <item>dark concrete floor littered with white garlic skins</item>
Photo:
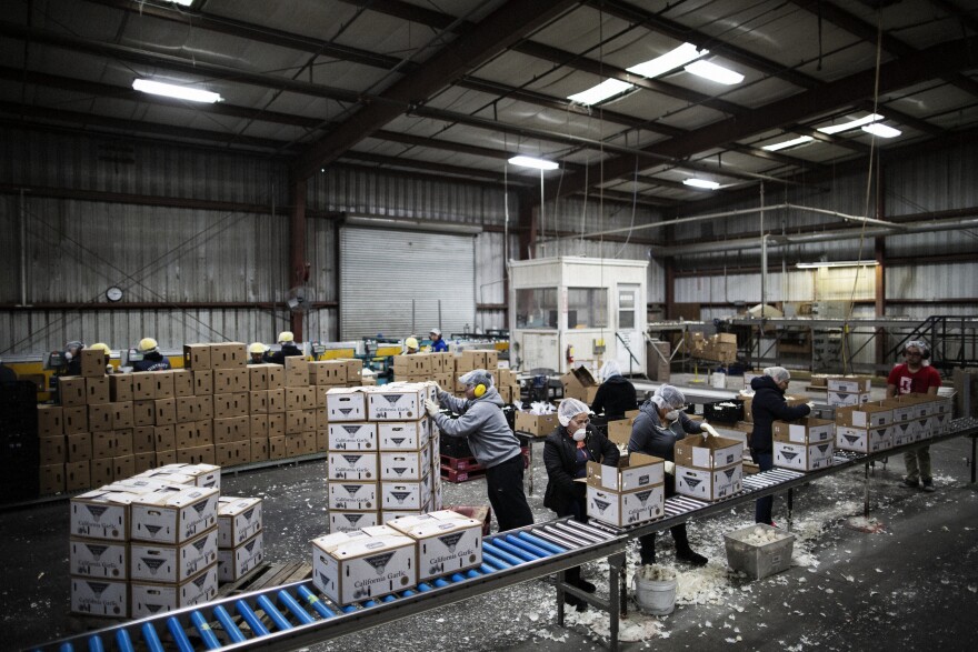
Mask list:
[[[862,518],[866,483],[851,469],[795,493],[796,534],[789,570],[748,581],[727,570],[723,533],[752,522],[752,504],[689,525],[693,548],[709,556],[703,569],[675,563],[671,539],[659,539],[659,560],[680,572],[676,611],[647,616],[630,605],[621,622],[621,649],[696,650],[974,650],[978,614],[978,491],[970,484],[971,440],[931,449],[938,491],[897,485],[901,460],[871,469],[871,513]],[[537,521],[546,471],[536,445]],[[309,558],[309,540],[327,530],[325,462],[226,473],[222,493],[266,501],[269,561]],[[446,502],[483,504],[485,481],[446,484]],[[775,521],[788,526],[786,501],[776,499]],[[7,642],[21,649],[91,626],[68,613],[68,503],[0,512],[0,613]],[[493,524],[495,530],[495,524]],[[637,563],[635,545],[629,562]],[[606,563],[585,569],[591,581]],[[630,575],[629,575],[630,578]],[[607,592],[607,584],[599,592]],[[569,626],[556,625],[555,590],[531,581],[441,608],[317,650],[467,649],[606,650],[608,616],[572,610]]]

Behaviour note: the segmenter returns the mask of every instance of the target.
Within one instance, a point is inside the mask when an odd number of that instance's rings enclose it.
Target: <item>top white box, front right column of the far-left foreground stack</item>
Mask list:
[[[217,525],[219,495],[220,491],[213,487],[188,487],[166,494],[142,495],[132,503],[130,538],[154,543],[192,539]]]

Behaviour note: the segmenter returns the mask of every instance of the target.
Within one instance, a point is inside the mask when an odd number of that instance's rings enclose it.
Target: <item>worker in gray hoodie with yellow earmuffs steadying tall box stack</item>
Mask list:
[[[446,437],[466,437],[476,461],[486,468],[489,504],[496,511],[499,531],[533,524],[533,513],[523,493],[523,455],[519,440],[502,413],[502,398],[485,369],[459,378],[466,398],[458,399],[438,388],[438,402],[426,401],[428,414]],[[459,414],[442,414],[445,407]]]

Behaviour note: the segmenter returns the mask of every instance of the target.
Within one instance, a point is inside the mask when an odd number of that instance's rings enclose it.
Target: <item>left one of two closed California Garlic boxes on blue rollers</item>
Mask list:
[[[335,542],[312,540],[312,582],[337,604],[382,598],[415,586],[417,543],[403,535]]]

